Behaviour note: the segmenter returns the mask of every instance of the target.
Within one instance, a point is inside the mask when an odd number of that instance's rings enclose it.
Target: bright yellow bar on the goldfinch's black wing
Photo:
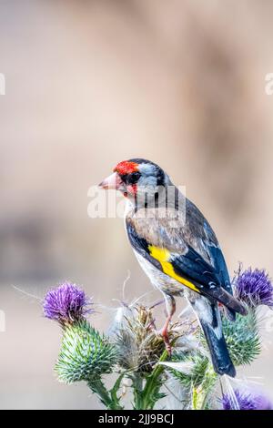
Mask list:
[[[189,289],[199,292],[197,287],[192,282],[177,275],[171,263],[170,251],[161,249],[159,247],[154,247],[153,245],[149,245],[148,249],[151,257],[159,261],[164,273],[166,273],[169,277],[173,278],[174,280],[177,280],[181,284],[186,285],[186,287],[188,287]]]

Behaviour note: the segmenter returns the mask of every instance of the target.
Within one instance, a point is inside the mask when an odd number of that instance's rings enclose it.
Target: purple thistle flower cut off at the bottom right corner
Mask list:
[[[223,410],[272,410],[272,403],[261,393],[234,391],[234,397],[224,394]]]

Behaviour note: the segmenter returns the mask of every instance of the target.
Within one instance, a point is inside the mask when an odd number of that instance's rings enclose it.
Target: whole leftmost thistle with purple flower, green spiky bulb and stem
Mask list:
[[[107,392],[102,382],[102,375],[114,369],[116,348],[86,321],[86,315],[92,312],[91,300],[70,282],[45,295],[45,317],[58,321],[63,329],[55,370],[60,382],[85,381],[107,408],[120,409],[115,390]]]

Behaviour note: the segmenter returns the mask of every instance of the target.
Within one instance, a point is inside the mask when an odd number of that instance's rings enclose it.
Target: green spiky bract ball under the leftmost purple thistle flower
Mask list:
[[[112,372],[116,348],[84,320],[64,331],[56,372],[61,382],[93,382]]]

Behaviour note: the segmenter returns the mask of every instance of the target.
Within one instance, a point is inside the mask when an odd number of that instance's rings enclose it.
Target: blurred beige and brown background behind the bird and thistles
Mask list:
[[[87,216],[87,190],[120,160],[186,186],[231,275],[238,261],[273,275],[272,18],[270,0],[0,1],[1,408],[99,407],[56,382],[60,331],[40,301],[67,279],[114,308],[127,270],[126,299],[152,290],[123,221]],[[272,395],[266,345],[239,378]]]

